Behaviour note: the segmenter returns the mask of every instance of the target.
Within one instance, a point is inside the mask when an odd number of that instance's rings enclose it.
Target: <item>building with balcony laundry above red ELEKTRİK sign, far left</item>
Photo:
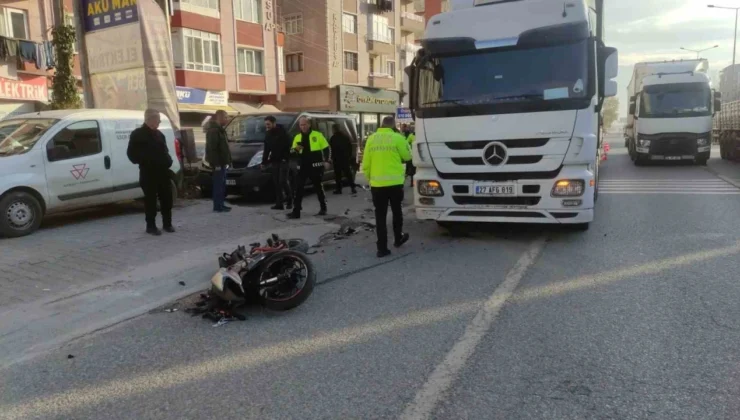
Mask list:
[[[0,118],[34,112],[49,101],[48,63],[35,55],[19,57],[18,49],[25,53],[41,51],[51,22],[43,8],[46,1],[0,2]],[[12,47],[9,47],[11,46]],[[39,57],[41,58],[41,57]]]

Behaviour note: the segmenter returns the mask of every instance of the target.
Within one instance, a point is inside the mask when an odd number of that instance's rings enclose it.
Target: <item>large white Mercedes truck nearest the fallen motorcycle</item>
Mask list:
[[[588,229],[617,51],[603,0],[453,0],[406,69],[419,219]]]

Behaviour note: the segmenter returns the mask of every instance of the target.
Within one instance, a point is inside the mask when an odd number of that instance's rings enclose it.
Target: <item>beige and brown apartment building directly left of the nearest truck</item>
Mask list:
[[[403,68],[424,18],[413,0],[283,0],[285,110],[355,115],[374,132],[401,104]]]

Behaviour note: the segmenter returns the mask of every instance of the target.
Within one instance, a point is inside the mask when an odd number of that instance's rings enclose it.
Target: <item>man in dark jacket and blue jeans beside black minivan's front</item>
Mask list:
[[[224,110],[216,111],[208,122],[206,132],[206,162],[213,168],[213,211],[226,213],[231,211],[226,201],[226,170],[231,166],[231,151],[226,138],[228,115]]]

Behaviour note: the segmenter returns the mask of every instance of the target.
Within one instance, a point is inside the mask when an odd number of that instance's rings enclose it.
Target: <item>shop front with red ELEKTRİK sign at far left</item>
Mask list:
[[[18,79],[0,77],[0,119],[36,112],[49,102],[48,79],[19,74]]]

